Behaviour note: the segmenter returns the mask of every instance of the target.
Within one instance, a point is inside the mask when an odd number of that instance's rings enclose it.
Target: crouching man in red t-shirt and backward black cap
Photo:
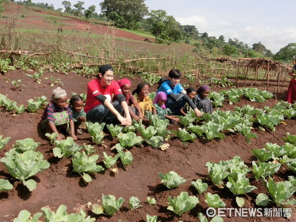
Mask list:
[[[97,79],[87,83],[84,107],[86,121],[102,123],[117,118],[121,125],[130,126],[132,120],[128,106],[118,83],[113,80],[114,74],[111,65],[100,66],[99,74],[96,77]],[[112,94],[117,98],[113,103],[111,103]],[[124,112],[125,118],[120,114],[122,112]]]

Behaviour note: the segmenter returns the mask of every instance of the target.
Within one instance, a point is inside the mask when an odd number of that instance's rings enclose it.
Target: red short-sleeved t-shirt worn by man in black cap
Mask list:
[[[103,88],[101,86],[100,78],[90,80],[87,83],[87,95],[86,95],[84,111],[87,112],[92,108],[94,108],[95,106],[101,104],[101,102],[97,100],[95,96],[99,94],[103,94],[104,96],[107,97],[107,100],[111,102],[112,94],[116,96],[118,93],[121,93],[121,89],[115,80],[112,80],[111,84],[107,85],[106,88]]]

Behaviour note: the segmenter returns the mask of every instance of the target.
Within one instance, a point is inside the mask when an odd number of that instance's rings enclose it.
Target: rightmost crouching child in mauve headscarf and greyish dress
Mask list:
[[[211,100],[208,98],[210,93],[210,87],[208,85],[202,85],[198,88],[196,95],[192,99],[198,110],[203,110],[206,113],[213,112]]]

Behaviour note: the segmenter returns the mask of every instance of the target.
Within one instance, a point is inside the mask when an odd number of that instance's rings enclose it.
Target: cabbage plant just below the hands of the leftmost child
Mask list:
[[[66,156],[68,158],[76,151],[79,151],[83,148],[83,146],[76,144],[72,137],[67,137],[66,140],[61,141],[55,140],[54,145],[56,147],[52,149],[53,155],[58,158],[62,158],[63,156]]]

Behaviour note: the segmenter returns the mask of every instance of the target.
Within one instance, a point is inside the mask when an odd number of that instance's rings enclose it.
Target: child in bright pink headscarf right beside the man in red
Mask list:
[[[117,82],[120,86],[121,92],[125,98],[127,105],[128,105],[128,110],[129,110],[131,117],[133,119],[135,119],[136,121],[140,121],[140,119],[143,118],[143,114],[142,114],[139,104],[136,102],[135,98],[131,94],[130,80],[128,80],[127,78],[123,78],[123,79],[118,80]],[[114,97],[112,101],[114,102],[115,100],[116,100],[116,98]],[[134,107],[131,107],[131,105],[133,105]]]

